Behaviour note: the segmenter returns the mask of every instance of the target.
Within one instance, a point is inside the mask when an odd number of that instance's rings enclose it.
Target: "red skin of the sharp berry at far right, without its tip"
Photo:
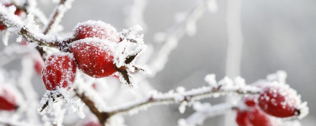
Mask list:
[[[275,93],[274,93],[275,91]],[[281,94],[283,93],[283,95]],[[269,97],[267,99],[266,97]],[[288,99],[285,101],[285,99]],[[285,102],[284,102],[285,101]],[[286,118],[295,115],[297,109],[295,95],[282,87],[266,87],[258,98],[258,105],[261,110],[275,117]],[[286,105],[282,105],[286,103]]]

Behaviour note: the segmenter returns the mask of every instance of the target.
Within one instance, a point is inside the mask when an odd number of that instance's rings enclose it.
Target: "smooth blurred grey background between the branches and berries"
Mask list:
[[[186,12],[196,0],[145,1],[145,42],[155,46],[154,34],[172,27],[175,15]],[[164,70],[149,78],[155,89],[161,92],[178,86],[192,89],[206,85],[203,78],[208,73],[216,74],[218,80],[225,76],[227,0],[217,0],[217,3],[218,11],[204,13],[197,21],[197,34],[181,38]],[[133,0],[75,0],[61,25],[65,32],[71,32],[79,22],[101,20],[121,31],[130,27],[126,16],[131,4]],[[55,4],[39,2],[39,6],[49,15]],[[316,125],[315,6],[315,0],[242,0],[241,9],[244,41],[240,76],[250,84],[267,74],[285,70],[287,83],[302,95],[303,101],[308,101],[310,107],[310,114],[301,121],[302,126]],[[19,63],[11,63],[6,68],[18,68],[16,65]],[[203,101],[216,104],[225,101],[225,98]],[[124,117],[128,126],[175,126],[178,119],[186,118],[193,112],[188,108],[185,114],[180,114],[178,105],[161,105]],[[223,126],[223,116],[207,119],[204,126]]]

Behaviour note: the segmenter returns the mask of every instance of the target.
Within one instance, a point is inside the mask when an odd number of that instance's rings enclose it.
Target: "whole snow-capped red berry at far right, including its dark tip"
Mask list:
[[[277,82],[264,88],[264,91],[258,97],[258,104],[264,112],[279,118],[293,116],[302,118],[303,115],[308,113],[306,104],[301,103],[300,96],[297,95],[296,91],[287,84]]]

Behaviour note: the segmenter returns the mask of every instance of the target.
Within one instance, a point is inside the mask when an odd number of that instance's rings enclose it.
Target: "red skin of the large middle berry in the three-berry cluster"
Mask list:
[[[70,46],[70,52],[78,67],[91,77],[108,77],[117,71],[111,50],[101,42],[75,42]]]

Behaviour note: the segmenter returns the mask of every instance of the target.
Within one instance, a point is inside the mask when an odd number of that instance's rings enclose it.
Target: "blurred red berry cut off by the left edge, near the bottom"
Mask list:
[[[0,95],[0,110],[12,111],[17,109],[17,104],[15,102],[15,97],[3,89]]]

